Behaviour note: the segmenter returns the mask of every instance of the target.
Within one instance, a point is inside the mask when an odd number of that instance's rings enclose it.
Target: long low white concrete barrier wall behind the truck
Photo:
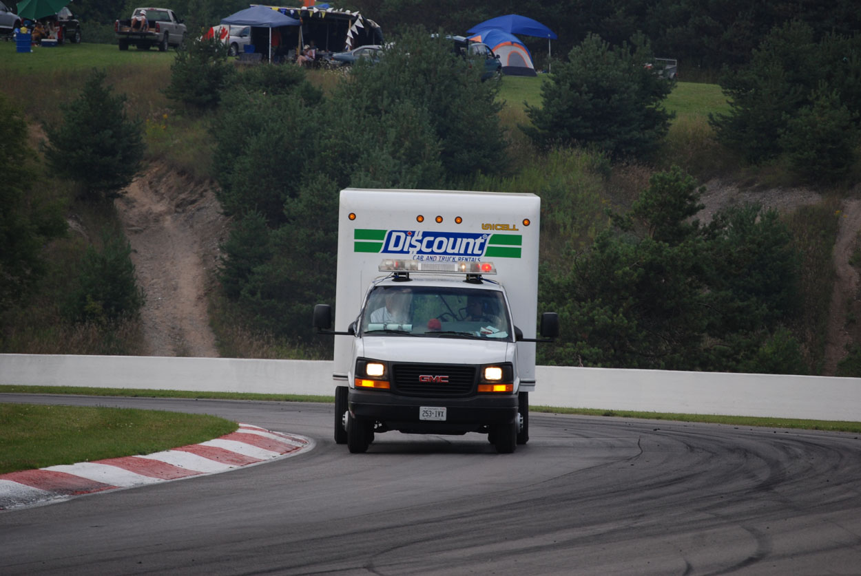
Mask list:
[[[334,395],[332,362],[0,354],[0,384]],[[530,404],[861,421],[861,378],[538,366]]]

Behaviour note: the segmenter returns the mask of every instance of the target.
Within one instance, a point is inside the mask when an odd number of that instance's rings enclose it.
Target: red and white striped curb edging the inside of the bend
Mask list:
[[[0,510],[36,506],[81,494],[215,474],[292,457],[313,440],[240,424],[236,432],[146,456],[108,458],[0,475]]]

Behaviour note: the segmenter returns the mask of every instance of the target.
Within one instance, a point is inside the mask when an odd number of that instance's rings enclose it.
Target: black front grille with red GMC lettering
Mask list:
[[[409,396],[468,396],[475,391],[475,366],[454,364],[396,364],[394,390]]]

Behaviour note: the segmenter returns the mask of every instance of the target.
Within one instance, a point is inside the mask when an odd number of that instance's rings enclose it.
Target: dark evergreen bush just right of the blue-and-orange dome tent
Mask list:
[[[610,47],[595,34],[554,64],[542,84],[542,106],[527,106],[533,126],[523,127],[544,148],[552,145],[596,147],[615,158],[647,158],[669,132],[672,114],[661,101],[672,83],[644,64],[653,54],[635,36]]]

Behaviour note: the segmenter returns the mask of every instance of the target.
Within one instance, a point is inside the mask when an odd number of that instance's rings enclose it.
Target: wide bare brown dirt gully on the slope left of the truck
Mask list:
[[[217,357],[207,295],[228,232],[214,185],[150,165],[116,202],[146,291],[149,356]]]

